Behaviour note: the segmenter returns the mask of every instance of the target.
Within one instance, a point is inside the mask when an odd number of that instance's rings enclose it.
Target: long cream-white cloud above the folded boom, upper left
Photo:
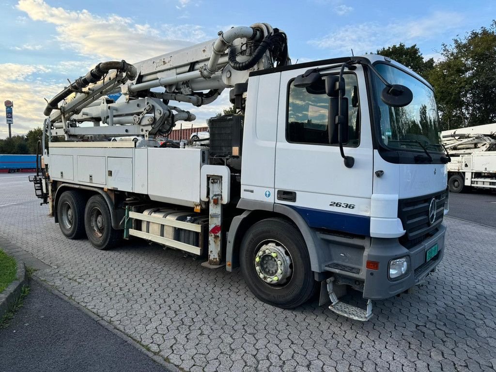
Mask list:
[[[182,0],[186,5],[187,1]],[[161,25],[160,29],[115,14],[102,17],[87,10],[69,11],[43,0],[20,0],[17,8],[35,21],[56,26],[62,48],[95,60],[142,61],[205,39],[200,26]]]

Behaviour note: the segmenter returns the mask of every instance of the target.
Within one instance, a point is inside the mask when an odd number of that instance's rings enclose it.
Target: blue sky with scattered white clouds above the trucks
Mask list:
[[[138,62],[267,22],[288,36],[292,62],[344,57],[400,42],[439,59],[442,43],[496,18],[496,1],[0,0],[0,106],[14,102],[12,134],[41,126],[44,98],[98,62]],[[229,106],[228,92],[194,108],[195,124]],[[0,138],[8,135],[2,112]]]

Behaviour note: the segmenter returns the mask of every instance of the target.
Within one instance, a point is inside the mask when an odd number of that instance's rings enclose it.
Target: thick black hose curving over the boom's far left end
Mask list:
[[[130,63],[125,62],[124,60],[98,63],[95,68],[90,70],[86,75],[80,76],[78,79],[76,79],[76,81],[62,90],[62,92],[48,101],[47,107],[45,108],[43,114],[45,116],[49,116],[52,110],[58,109],[59,103],[62,102],[65,98],[67,98],[73,92],[79,92],[82,88],[86,88],[88,85],[100,81],[103,76],[110,70],[124,71],[127,75],[126,77],[130,80],[134,80],[137,74],[136,67],[134,67]]]

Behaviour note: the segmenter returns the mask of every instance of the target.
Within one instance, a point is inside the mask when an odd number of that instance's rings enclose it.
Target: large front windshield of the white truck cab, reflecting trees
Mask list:
[[[439,117],[434,92],[415,77],[389,64],[378,63],[375,68],[391,84],[402,84],[413,92],[413,101],[405,107],[390,107],[380,99],[384,84],[375,75],[374,95],[380,114],[379,139],[393,149],[442,151]]]

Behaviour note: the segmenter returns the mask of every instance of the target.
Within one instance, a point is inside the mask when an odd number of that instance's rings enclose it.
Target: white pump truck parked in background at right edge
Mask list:
[[[496,189],[496,123],[444,130],[442,141],[451,155],[451,192],[477,187]]]

